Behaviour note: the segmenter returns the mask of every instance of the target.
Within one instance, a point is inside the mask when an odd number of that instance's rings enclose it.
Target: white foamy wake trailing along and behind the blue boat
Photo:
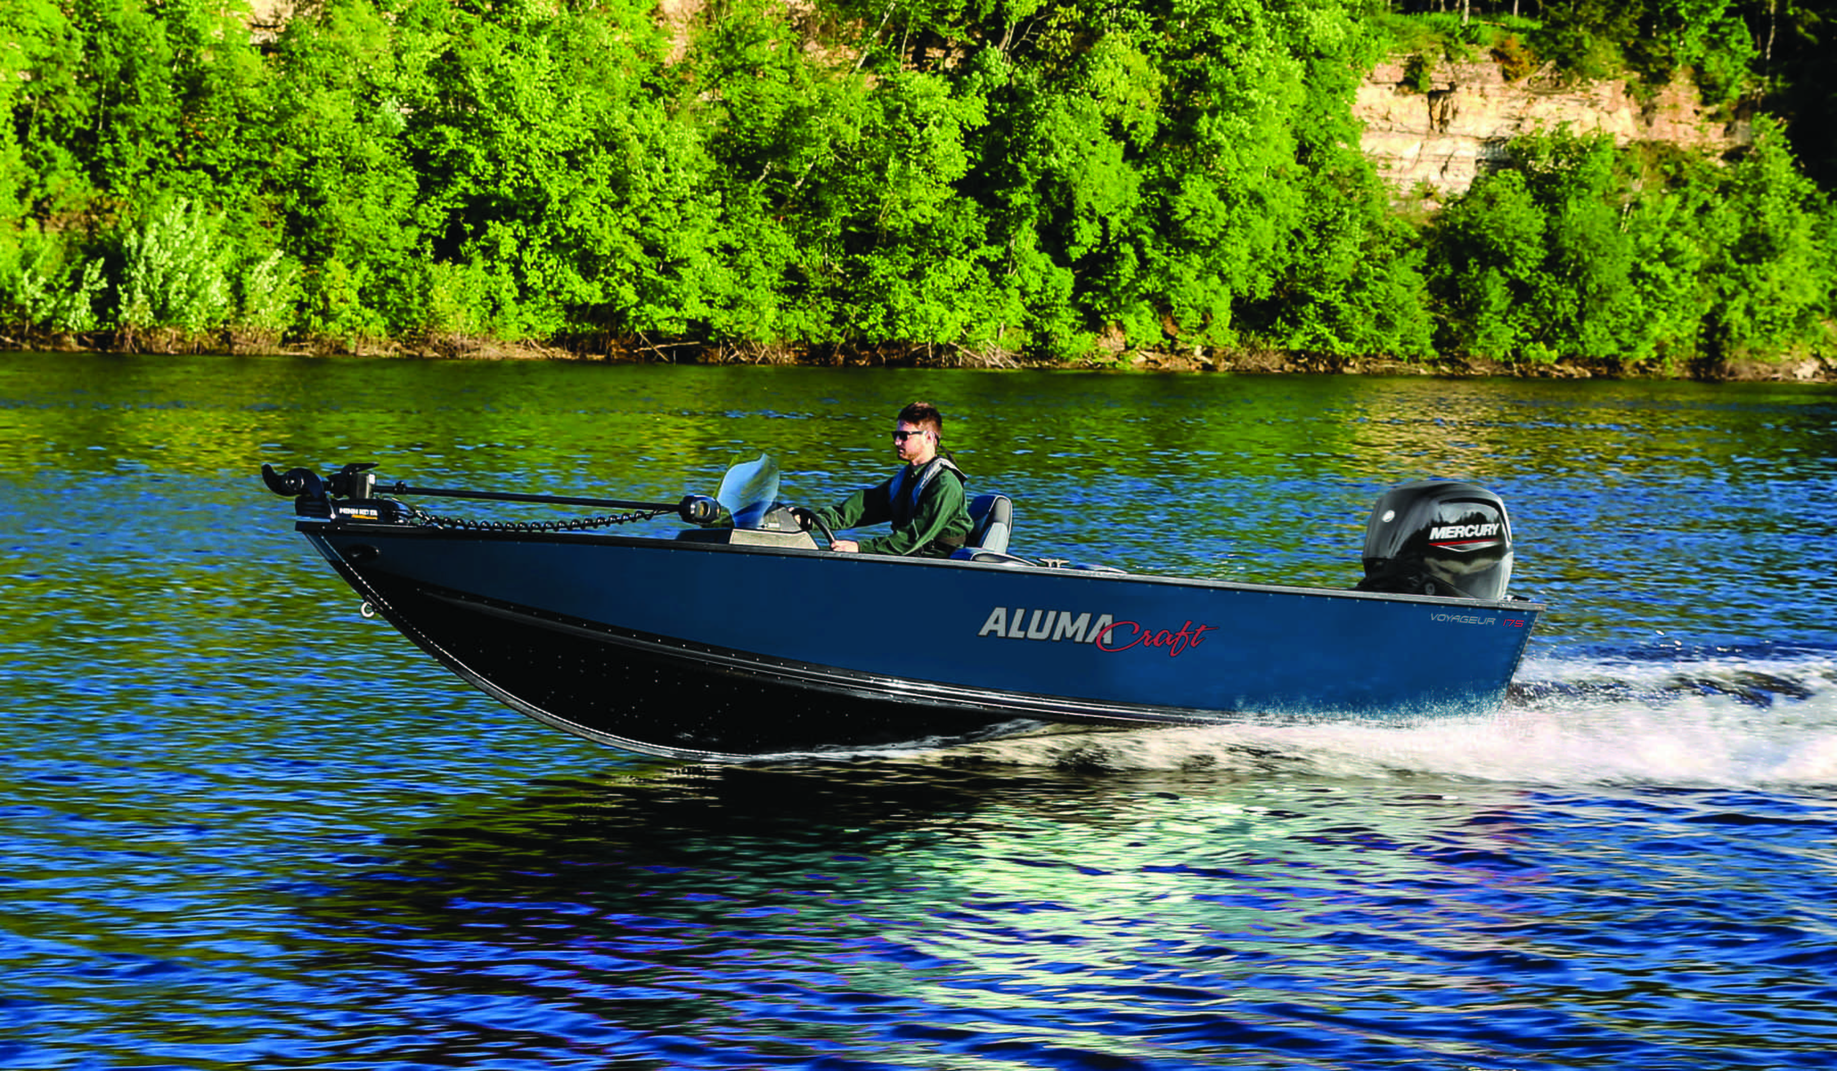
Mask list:
[[[1490,718],[1056,731],[907,751],[941,764],[1523,784],[1833,786],[1837,656],[1528,661]]]

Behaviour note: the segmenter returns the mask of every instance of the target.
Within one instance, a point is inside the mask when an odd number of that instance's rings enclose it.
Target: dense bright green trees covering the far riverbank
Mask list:
[[[1729,101],[1775,85],[1732,0],[1591,2],[1541,11],[1536,48],[1589,55],[1624,17],[1661,28],[1644,68]],[[255,42],[244,0],[11,0],[0,325],[981,358],[1826,345],[1831,209],[1765,119],[1730,162],[1534,138],[1424,222],[1359,154],[1352,92],[1396,42],[1343,0],[792,18],[713,0],[683,39],[650,0],[323,0]]]

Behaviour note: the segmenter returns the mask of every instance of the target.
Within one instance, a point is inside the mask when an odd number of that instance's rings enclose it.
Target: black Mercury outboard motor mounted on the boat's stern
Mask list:
[[[1505,599],[1510,579],[1512,520],[1492,490],[1426,479],[1372,505],[1359,592]]]

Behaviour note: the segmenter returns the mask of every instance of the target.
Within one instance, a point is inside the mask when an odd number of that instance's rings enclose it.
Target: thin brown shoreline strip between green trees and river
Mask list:
[[[163,336],[162,336],[163,334]],[[1442,378],[1620,378],[1679,382],[1789,382],[1833,384],[1837,360],[1798,356],[1780,360],[1688,362],[1677,367],[1622,367],[1617,362],[1560,360],[1512,364],[1490,358],[1440,356],[1398,360],[1389,356],[1335,356],[1279,349],[1227,353],[1132,351],[1106,358],[1032,360],[1009,353],[975,353],[963,347],[880,345],[766,345],[569,338],[560,344],[502,342],[490,338],[428,336],[421,340],[316,340],[283,344],[274,338],[182,336],[156,333],[114,344],[94,336],[13,338],[0,334],[0,347],[40,353],[149,353],[213,356],[356,356],[371,360],[569,360],[582,364],[779,364],[806,367],[979,367],[1010,371],[1139,371],[1227,375],[1414,375]]]

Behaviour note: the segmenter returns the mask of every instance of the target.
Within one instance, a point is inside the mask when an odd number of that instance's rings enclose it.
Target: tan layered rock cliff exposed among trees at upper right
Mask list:
[[[1743,121],[1712,121],[1690,83],[1672,83],[1640,103],[1620,79],[1563,86],[1532,75],[1508,83],[1495,62],[1442,64],[1429,72],[1427,92],[1405,85],[1402,59],[1380,62],[1359,86],[1352,114],[1365,123],[1365,154],[1398,193],[1427,186],[1435,200],[1466,193],[1481,171],[1503,160],[1506,141],[1532,130],[1567,125],[1576,134],[1611,134],[1617,145],[1666,141],[1710,151],[1749,138]]]

